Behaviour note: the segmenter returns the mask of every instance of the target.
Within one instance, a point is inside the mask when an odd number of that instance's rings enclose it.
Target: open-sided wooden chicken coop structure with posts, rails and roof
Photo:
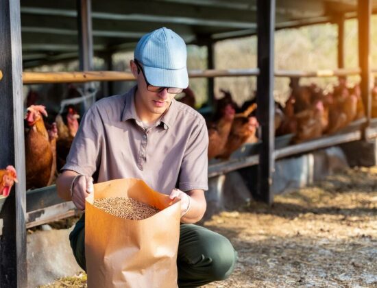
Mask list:
[[[377,136],[372,118],[370,61],[372,0],[109,0],[46,1],[0,0],[0,169],[14,165],[18,183],[1,208],[1,287],[26,287],[26,229],[75,215],[71,202],[56,195],[54,185],[26,190],[23,85],[47,83],[112,83],[132,81],[132,73],[112,71],[112,55],[132,51],[143,34],[166,26],[187,44],[206,47],[207,69],[189,71],[206,78],[208,107],[213,106],[216,77],[256,77],[256,118],[260,126],[257,154],[241,154],[210,164],[208,177],[257,167],[255,197],[273,202],[272,176],[276,160],[315,149],[367,141]],[[358,67],[345,69],[345,21],[358,21]],[[338,69],[277,71],[274,33],[279,29],[319,23],[338,27]],[[249,69],[216,69],[213,47],[220,40],[257,36],[257,65]],[[278,53],[278,52],[276,52]],[[93,56],[102,58],[106,71],[93,70]],[[31,72],[33,67],[79,59],[80,71]],[[278,147],[275,136],[273,83],[275,77],[345,77],[360,75],[360,103],[365,114],[350,129]],[[109,85],[110,85],[109,84]]]

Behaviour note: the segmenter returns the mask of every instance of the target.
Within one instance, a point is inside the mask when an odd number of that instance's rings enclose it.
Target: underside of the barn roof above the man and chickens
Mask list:
[[[78,58],[78,1],[21,1],[24,67]],[[143,34],[166,26],[188,44],[256,33],[256,0],[92,1],[93,49],[131,50]],[[373,1],[377,11],[377,0]],[[276,0],[276,29],[335,23],[356,16],[357,0]]]

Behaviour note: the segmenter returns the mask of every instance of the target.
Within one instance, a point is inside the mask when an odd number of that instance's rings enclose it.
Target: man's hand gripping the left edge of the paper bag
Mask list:
[[[85,198],[94,191],[93,178],[85,175],[77,175],[71,184],[71,199],[77,209],[85,210]]]

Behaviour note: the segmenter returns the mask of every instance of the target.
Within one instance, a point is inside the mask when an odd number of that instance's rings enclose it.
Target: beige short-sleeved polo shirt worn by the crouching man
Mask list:
[[[202,115],[175,99],[154,126],[136,115],[136,86],[97,101],[84,115],[62,170],[97,182],[140,178],[169,194],[208,190],[208,132]]]

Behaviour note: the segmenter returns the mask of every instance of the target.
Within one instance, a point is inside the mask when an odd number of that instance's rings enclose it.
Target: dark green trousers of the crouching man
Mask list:
[[[69,235],[77,263],[86,271],[85,215]],[[226,237],[193,224],[181,224],[178,245],[178,286],[198,287],[228,278],[237,253]]]

